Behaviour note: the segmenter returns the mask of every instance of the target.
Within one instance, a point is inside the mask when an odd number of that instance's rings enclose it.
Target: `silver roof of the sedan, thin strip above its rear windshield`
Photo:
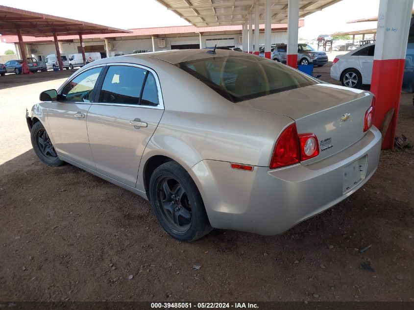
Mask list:
[[[148,52],[148,53],[141,53],[141,54],[130,54],[130,55],[125,55],[125,56],[131,57],[131,58],[137,58],[137,59],[156,58],[156,59],[168,62],[170,64],[176,65],[181,62],[197,60],[197,59],[214,58],[218,56],[243,55],[240,52],[234,51],[234,50],[216,49],[215,54],[208,53],[207,52],[208,50],[210,49],[175,49],[175,50]],[[109,61],[110,61],[110,58],[109,58]]]

